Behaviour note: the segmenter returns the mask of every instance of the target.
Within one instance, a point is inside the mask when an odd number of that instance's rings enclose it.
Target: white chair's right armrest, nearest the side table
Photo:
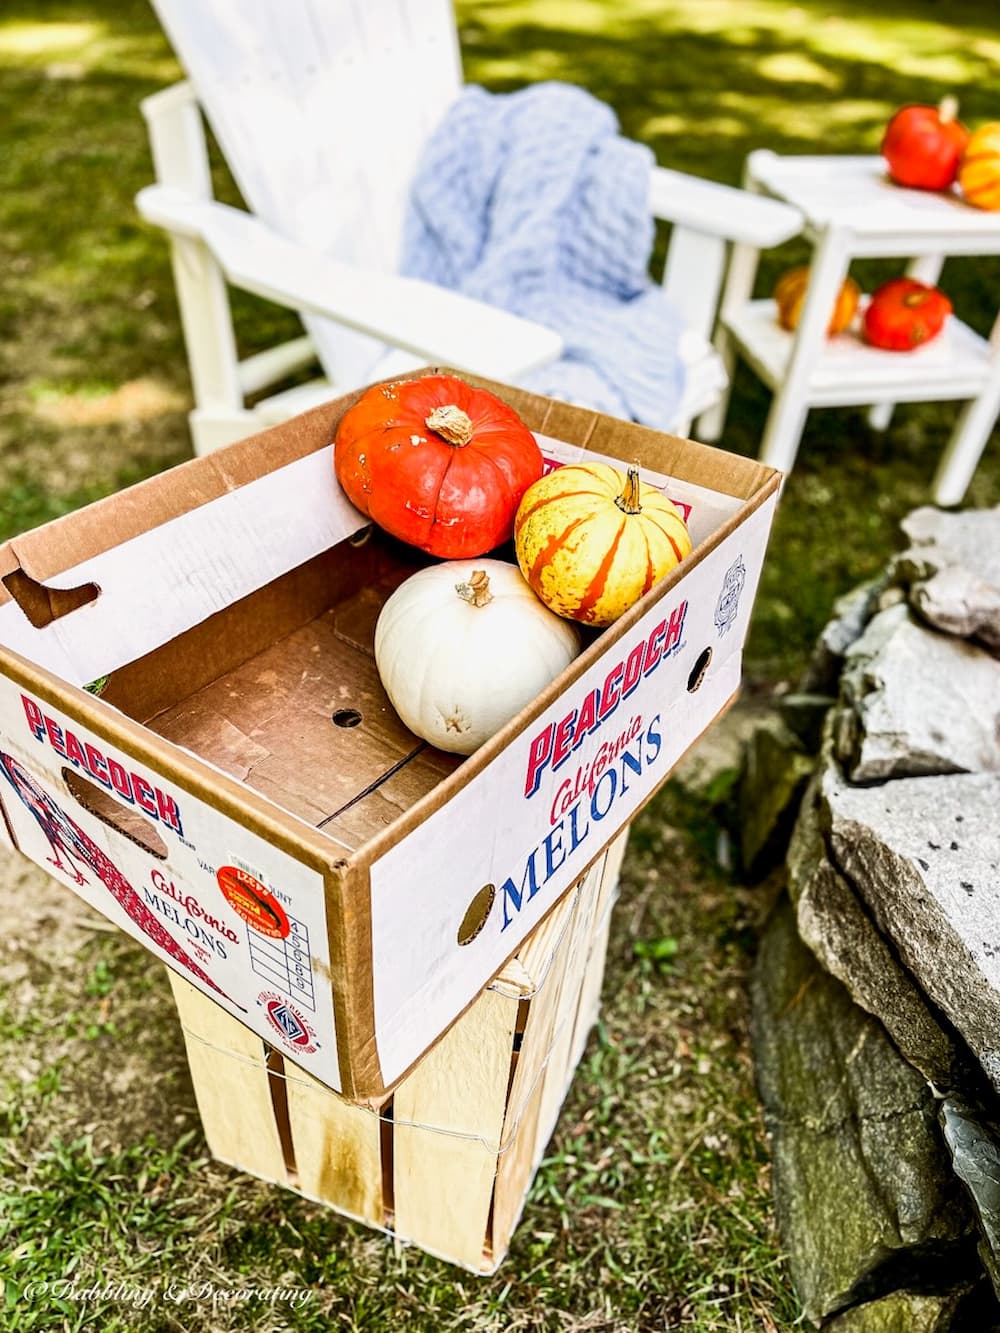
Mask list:
[[[791,204],[668,167],[653,167],[651,172],[649,208],[653,217],[756,249],[780,245],[796,236],[805,221]]]

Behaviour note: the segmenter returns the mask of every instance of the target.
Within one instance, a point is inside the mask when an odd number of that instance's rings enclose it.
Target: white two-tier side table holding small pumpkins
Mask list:
[[[896,403],[964,400],[933,481],[937,504],[959,504],[1000,413],[1000,319],[989,340],[952,316],[933,341],[912,352],[867,347],[853,333],[828,339],[829,312],[852,259],[905,256],[907,272],[936,283],[948,255],[1000,255],[1000,213],[957,193],[904,189],[881,157],[747,159],[749,189],[795,204],[813,249],[799,328],[777,324],[775,303],[751,300],[759,251],[736,247],[720,308],[716,345],[732,367],[743,356],[773,391],[760,457],[783,472],[795,464],[812,407],[871,405],[884,429]],[[699,439],[721,433],[727,401],[705,413]]]

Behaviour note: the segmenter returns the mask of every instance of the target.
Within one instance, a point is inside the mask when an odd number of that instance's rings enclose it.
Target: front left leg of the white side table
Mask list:
[[[820,239],[809,271],[809,288],[796,329],[784,383],[775,393],[760,460],[780,472],[791,472],[809,411],[809,380],[827,341],[829,312],[848,269],[849,236],[831,228]]]

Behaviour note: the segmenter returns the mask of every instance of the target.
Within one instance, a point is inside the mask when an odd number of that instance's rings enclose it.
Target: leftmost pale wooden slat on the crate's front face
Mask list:
[[[212,1156],[261,1180],[288,1185],[264,1042],[183,977],[167,974]]]

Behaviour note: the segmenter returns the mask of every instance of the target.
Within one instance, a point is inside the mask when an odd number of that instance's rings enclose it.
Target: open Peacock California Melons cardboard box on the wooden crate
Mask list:
[[[752,460],[477,383],[552,465],[640,464],[696,545],[468,760],[377,678],[379,609],[427,559],[335,483],[357,393],[0,548],[11,840],[353,1098],[403,1077],[735,696],[777,496]]]

